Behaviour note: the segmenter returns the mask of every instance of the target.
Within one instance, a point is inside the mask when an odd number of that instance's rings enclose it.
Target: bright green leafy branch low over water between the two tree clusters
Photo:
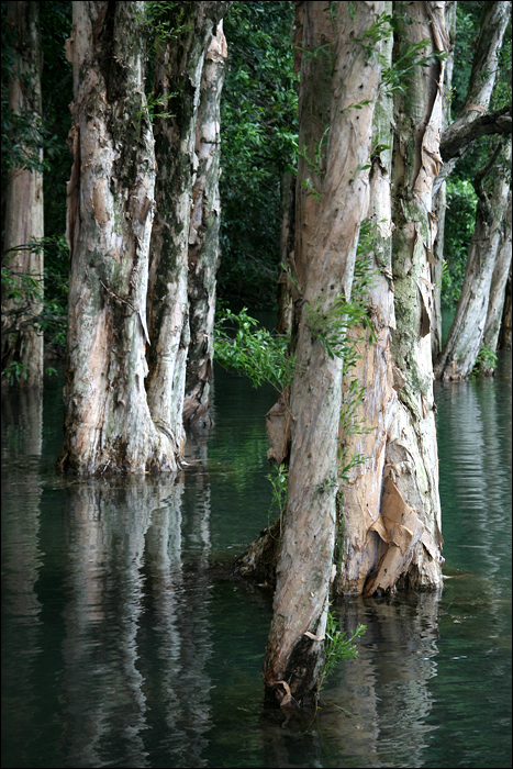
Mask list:
[[[215,359],[224,368],[249,378],[254,387],[268,382],[281,392],[293,375],[293,357],[287,355],[288,339],[263,328],[247,309],[222,312],[214,327]]]

